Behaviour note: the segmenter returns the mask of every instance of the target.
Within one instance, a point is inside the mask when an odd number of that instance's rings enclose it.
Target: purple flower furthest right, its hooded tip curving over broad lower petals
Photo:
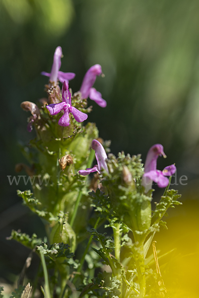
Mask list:
[[[160,144],[153,145],[147,153],[142,178],[145,193],[152,188],[153,181],[161,188],[166,187],[169,184],[169,179],[165,176],[172,176],[176,171],[174,164],[165,167],[163,171],[157,170],[157,158],[161,155],[166,157],[163,146]]]

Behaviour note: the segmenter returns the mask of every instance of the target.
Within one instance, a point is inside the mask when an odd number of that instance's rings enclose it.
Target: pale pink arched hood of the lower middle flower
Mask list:
[[[102,144],[99,141],[93,140],[92,141],[92,149],[95,150],[95,157],[97,159],[97,164],[98,164],[99,170],[101,171],[102,169],[104,169],[108,173],[109,170],[108,170],[107,163],[106,163],[107,154],[106,154],[104,147],[102,146]]]

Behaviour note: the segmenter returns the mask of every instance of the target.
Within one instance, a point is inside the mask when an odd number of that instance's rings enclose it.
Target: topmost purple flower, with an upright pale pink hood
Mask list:
[[[62,48],[57,47],[54,54],[51,73],[50,74],[46,72],[41,73],[43,75],[50,76],[50,81],[56,84],[58,79],[61,81],[61,83],[63,83],[65,80],[68,82],[68,80],[71,80],[75,77],[75,74],[73,73],[63,73],[59,71],[61,68],[61,58],[62,58]]]

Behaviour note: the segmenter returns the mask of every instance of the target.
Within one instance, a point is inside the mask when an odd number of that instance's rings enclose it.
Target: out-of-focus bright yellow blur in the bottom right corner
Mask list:
[[[163,219],[168,230],[161,228],[154,237],[169,298],[199,297],[199,201],[189,195],[184,194],[183,205],[169,210],[169,217]]]

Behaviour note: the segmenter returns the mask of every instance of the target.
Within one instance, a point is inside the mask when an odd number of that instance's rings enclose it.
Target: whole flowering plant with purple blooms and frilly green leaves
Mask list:
[[[46,236],[13,230],[9,239],[40,256],[37,283],[30,281],[33,293],[42,289],[40,297],[162,297],[166,288],[151,267],[157,258],[147,253],[154,234],[166,225],[162,218],[167,209],[181,204],[177,191],[169,189],[176,167],[157,170],[158,156],[165,157],[160,144],[149,149],[144,165],[140,155],[109,153],[96,125],[84,122],[92,111],[88,97],[106,106],[93,88],[101,66],[92,66],[80,90],[72,94],[68,81],[75,74],[60,72],[61,57],[58,47],[51,73],[42,73],[50,77],[48,98],[37,105],[21,104],[31,113],[27,129],[34,128],[36,138],[23,149],[29,166],[22,168],[32,179],[32,190],[17,194],[42,219]],[[40,183],[41,177],[45,183]],[[152,211],[153,181],[164,193]],[[99,232],[108,227],[112,235]],[[21,278],[16,293],[24,295],[19,286],[25,286]]]

